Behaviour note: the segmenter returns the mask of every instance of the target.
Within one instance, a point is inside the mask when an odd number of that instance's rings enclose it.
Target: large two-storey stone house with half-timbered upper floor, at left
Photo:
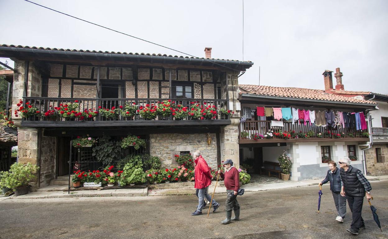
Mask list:
[[[12,112],[26,103],[47,112],[61,103],[75,103],[80,110],[120,107],[128,102],[139,106],[171,99],[190,106],[215,105],[235,110],[232,117],[213,120],[174,120],[173,117],[145,120],[139,115],[109,119],[97,114],[93,120],[62,117],[29,117],[13,114],[18,127],[18,160],[40,167],[38,186],[71,173],[68,161],[76,157],[71,139],[103,134],[121,138],[137,135],[146,139],[147,151],[159,156],[165,167],[176,165],[175,154],[196,149],[210,167],[231,158],[239,164],[237,76],[252,62],[161,54],[102,52],[57,48],[1,45],[0,55],[15,62]]]

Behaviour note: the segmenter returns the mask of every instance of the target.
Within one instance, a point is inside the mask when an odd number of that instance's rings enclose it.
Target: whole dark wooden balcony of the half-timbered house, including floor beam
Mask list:
[[[155,119],[147,120],[140,116],[137,112],[135,115],[126,117],[120,112],[125,110],[127,103],[134,104],[137,109],[151,105],[157,105],[158,102],[163,102],[168,99],[140,99],[140,98],[49,98],[49,97],[24,97],[23,107],[36,107],[40,112],[38,116],[23,118],[21,125],[25,127],[109,127],[109,126],[225,126],[231,123],[227,115],[215,115],[215,119],[192,119],[189,114],[185,115],[183,119],[175,119],[170,114],[167,117],[158,115]],[[214,100],[214,99],[170,99],[175,102],[175,105],[181,107],[190,107],[193,102],[205,106],[215,106],[217,112],[220,109],[227,109],[229,107],[228,100]],[[27,104],[26,104],[27,103]],[[94,112],[93,117],[66,117],[61,114],[61,110],[56,107],[63,105],[76,105],[74,112],[82,113],[85,110]],[[100,114],[101,110],[112,109],[116,110],[114,117],[104,117]],[[46,112],[51,112],[45,115]],[[86,114],[88,115],[88,114]]]

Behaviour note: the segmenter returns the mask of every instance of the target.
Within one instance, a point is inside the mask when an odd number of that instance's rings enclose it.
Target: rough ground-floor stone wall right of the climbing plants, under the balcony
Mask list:
[[[150,134],[150,154],[161,159],[163,167],[177,166],[174,155],[180,151],[200,150],[209,167],[217,167],[217,138],[210,134],[211,144],[207,144],[207,134]],[[237,145],[238,147],[238,145]],[[238,150],[237,150],[238,155]]]

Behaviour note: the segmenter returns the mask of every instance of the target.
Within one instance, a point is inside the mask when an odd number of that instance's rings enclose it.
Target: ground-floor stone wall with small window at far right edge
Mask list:
[[[376,160],[376,148],[381,148],[383,163]],[[388,144],[373,144],[372,148],[365,150],[365,163],[367,175],[378,176],[388,174]]]

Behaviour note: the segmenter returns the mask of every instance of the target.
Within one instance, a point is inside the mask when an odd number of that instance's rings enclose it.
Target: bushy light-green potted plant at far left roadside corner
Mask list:
[[[4,186],[12,189],[16,196],[27,194],[29,182],[36,178],[35,173],[38,169],[39,167],[31,163],[26,165],[14,163],[4,179]]]

